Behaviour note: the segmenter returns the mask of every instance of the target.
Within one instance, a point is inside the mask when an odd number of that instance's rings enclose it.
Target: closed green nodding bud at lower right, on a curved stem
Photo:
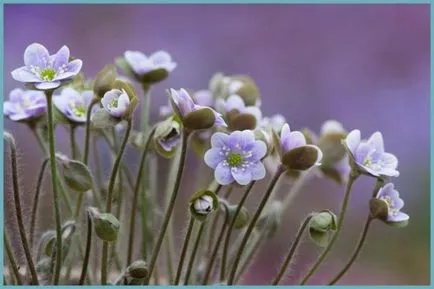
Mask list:
[[[332,231],[337,228],[337,217],[333,212],[324,210],[314,213],[309,222],[309,236],[318,246],[327,246]]]

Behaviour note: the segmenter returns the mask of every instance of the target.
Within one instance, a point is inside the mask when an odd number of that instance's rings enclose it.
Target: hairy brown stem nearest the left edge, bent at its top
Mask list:
[[[17,164],[17,146],[15,144],[15,139],[10,133],[4,133],[5,140],[9,144],[9,149],[11,153],[11,169],[12,169],[12,183],[13,183],[13,196],[15,203],[15,214],[17,217],[18,230],[21,237],[21,243],[23,245],[24,254],[29,265],[30,274],[32,276],[32,284],[38,285],[38,276],[36,274],[35,265],[32,260],[32,253],[29,248],[29,243],[26,237],[26,229],[24,228],[23,215],[21,210],[21,193],[18,180],[18,164]]]

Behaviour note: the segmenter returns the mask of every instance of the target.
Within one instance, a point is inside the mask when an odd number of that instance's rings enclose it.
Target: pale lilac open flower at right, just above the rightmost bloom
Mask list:
[[[345,144],[357,166],[375,177],[397,177],[398,159],[384,152],[383,136],[375,132],[368,140],[361,140],[360,131],[353,130],[345,139]]]

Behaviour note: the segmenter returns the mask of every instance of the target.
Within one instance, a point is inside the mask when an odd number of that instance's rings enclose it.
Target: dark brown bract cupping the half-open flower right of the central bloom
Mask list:
[[[305,145],[291,149],[282,156],[282,163],[289,170],[304,171],[318,163],[321,152],[315,146]]]

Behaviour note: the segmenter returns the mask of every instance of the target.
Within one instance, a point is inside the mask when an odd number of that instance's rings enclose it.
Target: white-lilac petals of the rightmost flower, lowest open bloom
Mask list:
[[[407,214],[400,212],[404,207],[404,201],[399,197],[399,192],[394,189],[392,183],[388,183],[382,187],[378,191],[376,198],[383,200],[387,204],[387,222],[403,222],[410,218]]]

